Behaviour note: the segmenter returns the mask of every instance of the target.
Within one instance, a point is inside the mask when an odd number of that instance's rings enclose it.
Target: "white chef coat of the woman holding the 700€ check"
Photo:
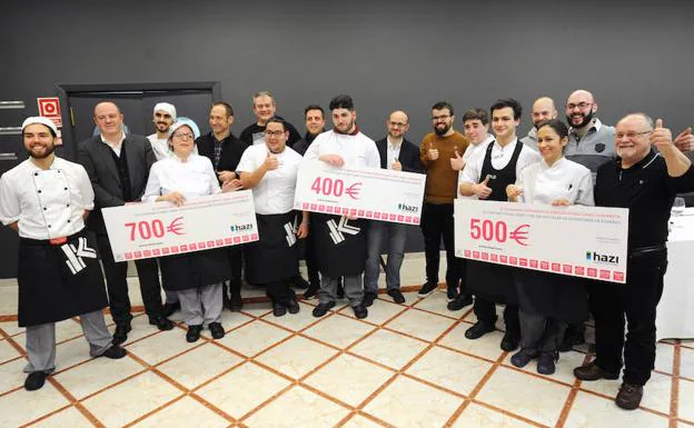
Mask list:
[[[156,161],[149,170],[142,201],[155,202],[159,196],[172,191],[181,193],[187,200],[220,193],[212,162],[195,153],[190,153],[185,162],[177,156]]]

